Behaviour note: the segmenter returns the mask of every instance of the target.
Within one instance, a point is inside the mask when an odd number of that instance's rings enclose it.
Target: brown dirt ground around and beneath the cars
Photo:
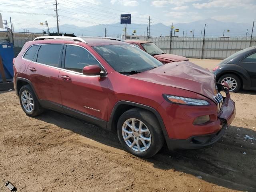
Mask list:
[[[212,147],[142,159],[116,134],[50,110],[28,117],[14,91],[0,92],[0,191],[255,192],[256,140],[244,137],[256,138],[256,92],[231,96],[236,118]]]

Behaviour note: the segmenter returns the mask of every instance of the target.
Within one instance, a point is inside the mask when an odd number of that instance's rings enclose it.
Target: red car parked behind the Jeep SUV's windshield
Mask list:
[[[186,57],[163,52],[158,46],[150,41],[126,40],[125,42],[133,44],[138,48],[146,51],[148,54],[152,55],[163,64],[178,61],[188,61],[188,58]]]

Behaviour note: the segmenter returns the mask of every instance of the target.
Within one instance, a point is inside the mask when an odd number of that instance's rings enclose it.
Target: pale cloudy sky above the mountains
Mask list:
[[[120,14],[131,13],[133,23],[189,23],[207,18],[222,22],[252,23],[256,0],[57,0],[59,24],[92,26],[120,22]],[[0,0],[3,20],[14,28],[42,28],[40,22],[56,26],[55,0]]]

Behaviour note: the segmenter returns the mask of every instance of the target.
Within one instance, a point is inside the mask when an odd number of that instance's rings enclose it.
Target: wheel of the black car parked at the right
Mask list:
[[[233,74],[225,74],[221,76],[218,80],[219,83],[226,82],[229,86],[230,92],[238,92],[241,87],[241,81],[238,76]]]

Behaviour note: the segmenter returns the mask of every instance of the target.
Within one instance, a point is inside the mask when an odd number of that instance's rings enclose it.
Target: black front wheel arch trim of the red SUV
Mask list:
[[[109,121],[107,123],[107,129],[112,132],[116,132],[116,126],[117,126],[119,117],[124,112],[126,112],[127,110],[130,110],[132,108],[142,108],[142,109],[148,110],[149,112],[152,112],[152,114],[154,114],[154,116],[158,120],[158,123],[162,129],[164,136],[168,135],[166,128],[164,126],[162,117],[160,116],[160,114],[158,113],[158,111],[156,109],[154,109],[150,106],[144,105],[144,104],[139,104],[139,103],[130,102],[130,101],[119,101],[115,104],[114,108],[112,109]]]

